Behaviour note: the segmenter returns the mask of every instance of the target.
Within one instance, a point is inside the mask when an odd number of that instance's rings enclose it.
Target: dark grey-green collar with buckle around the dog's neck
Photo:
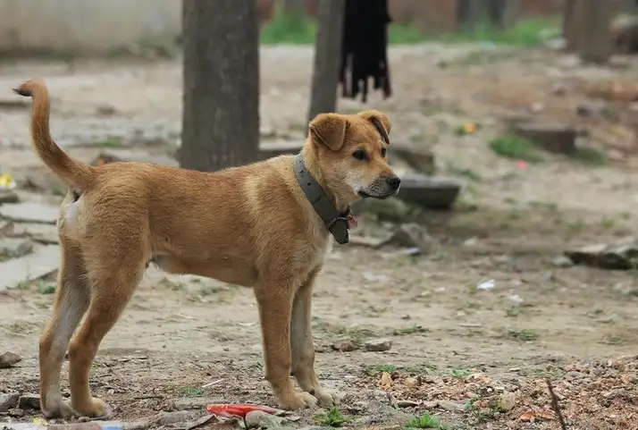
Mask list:
[[[313,178],[313,175],[306,169],[302,152],[295,156],[294,170],[301,190],[306,194],[306,198],[315,208],[316,213],[321,217],[328,231],[331,232],[334,239],[337,240],[337,243],[340,245],[348,243],[348,226],[350,223],[354,223],[350,207],[343,213],[334,208],[330,198],[326,196],[319,182],[317,182],[315,178]]]

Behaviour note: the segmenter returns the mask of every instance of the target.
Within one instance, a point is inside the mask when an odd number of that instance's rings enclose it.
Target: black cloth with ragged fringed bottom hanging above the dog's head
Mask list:
[[[388,0],[346,0],[341,43],[340,83],[343,97],[357,98],[365,103],[368,79],[374,79],[374,89],[382,89],[390,97],[388,65]]]

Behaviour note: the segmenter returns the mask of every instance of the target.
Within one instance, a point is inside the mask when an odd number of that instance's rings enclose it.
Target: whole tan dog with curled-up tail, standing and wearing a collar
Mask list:
[[[93,167],[51,138],[43,82],[29,80],[15,92],[33,97],[33,144],[69,186],[58,218],[62,259],[54,311],[39,341],[40,402],[47,417],[105,413],[104,402],[91,397],[88,372],[150,261],[172,274],[252,287],[265,378],[277,404],[299,409],[337,400],[315,375],[310,300],[330,232],[348,240],[348,205],[399,190],[385,158],[385,114],[320,114],[298,156],[216,173],[143,163]],[[60,392],[67,348],[71,404]],[[303,392],[294,390],[290,375]]]

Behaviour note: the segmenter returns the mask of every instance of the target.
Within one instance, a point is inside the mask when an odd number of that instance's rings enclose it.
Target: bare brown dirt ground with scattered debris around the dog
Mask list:
[[[268,47],[261,55],[263,133],[302,139],[312,50]],[[555,429],[550,377],[568,428],[638,429],[636,272],[558,258],[635,232],[635,106],[631,97],[602,100],[592,88],[631,88],[638,60],[594,68],[547,49],[433,44],[393,46],[390,60],[394,96],[366,106],[342,100],[340,111],[387,111],[392,139],[431,148],[438,173],[463,191],[453,212],[420,217],[436,242],[427,255],[340,246],[328,256],[314,299],[317,367],[343,398],[344,426],[407,428],[431,414],[439,422],[419,426]],[[118,150],[107,144],[113,136],[179,142],[179,60],[3,63],[0,98],[30,77],[46,79],[54,135],[75,156]],[[583,104],[591,114],[580,112]],[[504,115],[520,113],[577,124],[589,131],[579,145],[609,161],[544,155],[517,164],[496,155],[488,142]],[[480,130],[458,136],[467,121]],[[0,108],[0,173],[22,182],[41,169],[27,111]],[[61,199],[23,183],[23,200]],[[369,234],[388,229],[370,217],[360,222]],[[477,288],[489,280],[493,288]],[[0,393],[38,392],[38,334],[53,299],[42,286],[50,282],[0,295],[0,353],[23,358],[0,369]],[[359,348],[370,339],[389,339],[391,348]],[[357,349],[333,348],[344,341]],[[212,402],[272,405],[252,292],[149,269],[102,344],[91,386],[126,421]],[[289,425],[328,426],[321,413],[300,412]],[[33,409],[0,411],[2,421],[34,417]]]

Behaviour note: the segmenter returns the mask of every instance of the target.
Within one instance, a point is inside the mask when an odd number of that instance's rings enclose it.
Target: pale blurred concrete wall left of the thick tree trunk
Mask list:
[[[0,17],[0,52],[108,51],[172,43],[180,34],[181,2],[0,0]]]

